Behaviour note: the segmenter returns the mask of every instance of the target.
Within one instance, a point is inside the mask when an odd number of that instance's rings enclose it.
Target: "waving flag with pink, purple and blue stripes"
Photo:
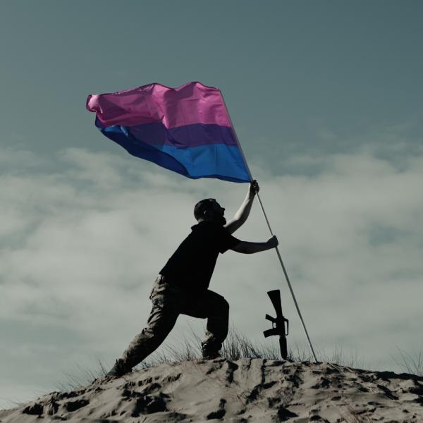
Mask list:
[[[87,98],[95,125],[133,156],[188,178],[252,178],[221,92],[200,82],[143,85]]]

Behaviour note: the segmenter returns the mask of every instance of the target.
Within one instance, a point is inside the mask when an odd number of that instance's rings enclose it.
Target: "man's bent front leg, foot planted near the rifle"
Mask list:
[[[207,290],[202,295],[188,300],[180,313],[192,317],[207,318],[206,338],[202,342],[204,358],[219,357],[219,350],[228,335],[229,304],[221,295]]]

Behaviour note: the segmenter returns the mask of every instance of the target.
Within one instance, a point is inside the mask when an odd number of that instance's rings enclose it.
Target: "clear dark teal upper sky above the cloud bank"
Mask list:
[[[338,138],[402,123],[421,107],[418,1],[13,1],[2,9],[2,132],[31,137],[43,153],[87,147],[87,94],[149,82],[219,87],[247,157],[275,169],[293,151],[354,148]],[[319,140],[316,128],[337,137]],[[100,137],[90,147],[114,148]]]

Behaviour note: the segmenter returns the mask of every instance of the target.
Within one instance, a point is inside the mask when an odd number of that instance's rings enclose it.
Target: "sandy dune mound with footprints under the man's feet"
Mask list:
[[[97,379],[14,410],[29,422],[423,422],[423,377],[333,364],[195,360]]]

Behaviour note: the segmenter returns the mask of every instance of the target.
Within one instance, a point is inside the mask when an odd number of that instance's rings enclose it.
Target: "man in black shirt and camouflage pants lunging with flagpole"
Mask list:
[[[116,360],[108,376],[123,376],[156,350],[179,314],[207,319],[202,355],[206,359],[220,357],[219,350],[228,334],[229,305],[225,298],[208,289],[219,252],[252,254],[278,245],[276,236],[265,243],[250,243],[231,235],[247,220],[258,191],[257,180],[253,180],[243,204],[228,223],[225,209],[213,198],[195,204],[198,223],[159,272],[149,297],[153,307],[147,326],[131,341],[122,358]]]

